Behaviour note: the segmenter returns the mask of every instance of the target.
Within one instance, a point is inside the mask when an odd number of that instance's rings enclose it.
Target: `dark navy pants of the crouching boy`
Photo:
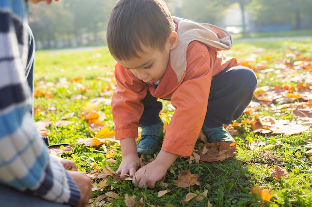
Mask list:
[[[256,87],[257,77],[251,69],[243,66],[224,69],[211,82],[204,125],[216,128],[238,119],[250,103]],[[144,111],[140,126],[159,123],[162,103],[149,92],[142,102]]]

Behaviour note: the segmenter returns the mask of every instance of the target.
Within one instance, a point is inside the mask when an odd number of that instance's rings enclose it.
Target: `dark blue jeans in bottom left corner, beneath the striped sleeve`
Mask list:
[[[0,184],[0,206],[1,207],[70,207],[57,204],[39,198],[37,196],[21,192],[11,187]]]

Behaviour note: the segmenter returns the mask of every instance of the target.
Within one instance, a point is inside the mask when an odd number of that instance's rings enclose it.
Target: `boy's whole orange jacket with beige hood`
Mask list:
[[[162,150],[190,156],[204,123],[212,78],[237,65],[220,52],[232,46],[228,32],[210,24],[174,17],[179,42],[170,51],[168,67],[157,87],[148,85],[120,64],[115,66],[117,88],[112,98],[115,138],[138,137],[141,100],[149,90],[157,98],[170,99],[176,108],[168,125]]]

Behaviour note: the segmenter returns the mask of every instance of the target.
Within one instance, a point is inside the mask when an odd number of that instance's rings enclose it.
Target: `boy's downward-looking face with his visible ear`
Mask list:
[[[177,34],[176,32],[172,32],[167,39],[163,51],[142,47],[144,52],[138,53],[140,58],[116,61],[124,68],[130,69],[132,74],[140,80],[152,84],[161,80],[168,66],[170,50],[176,47],[177,42]]]

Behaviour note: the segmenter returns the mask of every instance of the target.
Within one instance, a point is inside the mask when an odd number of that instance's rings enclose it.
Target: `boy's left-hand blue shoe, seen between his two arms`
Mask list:
[[[163,123],[142,127],[141,138],[137,144],[138,153],[153,155],[159,152],[163,139]]]

